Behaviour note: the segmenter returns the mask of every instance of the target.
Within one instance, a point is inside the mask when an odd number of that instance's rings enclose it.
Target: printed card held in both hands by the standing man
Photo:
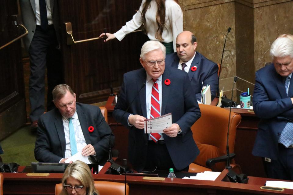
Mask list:
[[[164,133],[172,125],[172,113],[144,120],[144,133]]]

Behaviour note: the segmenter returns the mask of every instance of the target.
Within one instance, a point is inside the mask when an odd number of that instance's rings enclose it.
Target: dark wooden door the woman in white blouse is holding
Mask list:
[[[98,37],[106,28],[114,33],[132,19],[141,0],[92,0],[59,1],[62,34],[64,78],[74,92],[77,101],[95,103],[107,100],[110,86],[119,90],[123,73],[141,67],[141,46],[148,40],[141,32],[117,39],[67,45],[64,22],[71,22],[74,40]]]

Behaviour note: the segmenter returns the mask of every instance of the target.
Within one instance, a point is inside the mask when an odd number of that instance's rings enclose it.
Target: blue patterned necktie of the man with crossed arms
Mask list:
[[[286,88],[287,96],[288,96],[289,82],[290,82],[290,78],[289,78],[289,76],[287,76],[286,81],[285,81],[285,88]],[[293,123],[287,122],[285,128],[283,129],[283,131],[281,133],[281,138],[280,138],[280,142],[286,147],[293,144],[293,136],[292,136],[293,131],[292,130],[293,130]]]

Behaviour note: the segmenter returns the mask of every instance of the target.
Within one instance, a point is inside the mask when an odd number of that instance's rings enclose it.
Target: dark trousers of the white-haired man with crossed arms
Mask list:
[[[277,160],[264,161],[268,178],[293,180],[293,148],[285,148],[279,144],[279,155]]]

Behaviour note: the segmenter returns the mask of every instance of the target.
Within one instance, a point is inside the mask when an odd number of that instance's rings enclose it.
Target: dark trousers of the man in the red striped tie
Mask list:
[[[159,141],[161,142],[161,141]],[[166,144],[155,143],[154,141],[149,141],[147,147],[147,162],[145,170],[154,170],[157,167],[157,170],[167,170],[173,168],[175,172],[177,171],[188,171],[188,167],[183,170],[177,170],[173,164],[173,161],[170,157]]]

